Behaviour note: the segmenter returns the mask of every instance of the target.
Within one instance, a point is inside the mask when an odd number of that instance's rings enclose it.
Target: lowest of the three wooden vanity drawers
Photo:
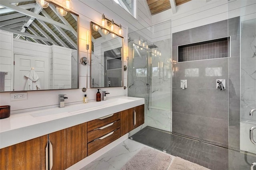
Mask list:
[[[88,143],[87,155],[89,156],[94,152],[96,152],[97,150],[102,149],[103,147],[112,143],[119,137],[120,137],[120,129],[116,129],[115,131],[112,131],[101,138],[95,139],[94,141]]]

